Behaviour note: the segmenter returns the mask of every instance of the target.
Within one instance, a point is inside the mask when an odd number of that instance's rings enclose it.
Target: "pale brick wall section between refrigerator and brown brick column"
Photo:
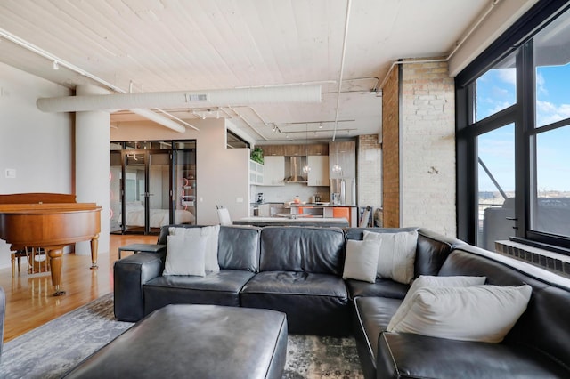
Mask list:
[[[358,205],[382,206],[382,150],[378,134],[358,136],[357,143]]]

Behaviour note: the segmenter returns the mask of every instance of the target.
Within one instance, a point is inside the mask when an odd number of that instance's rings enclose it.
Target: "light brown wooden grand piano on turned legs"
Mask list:
[[[20,193],[0,195],[0,239],[12,250],[43,247],[50,259],[54,296],[61,289],[63,247],[91,241],[91,268],[97,267],[101,206],[77,203],[75,195]]]

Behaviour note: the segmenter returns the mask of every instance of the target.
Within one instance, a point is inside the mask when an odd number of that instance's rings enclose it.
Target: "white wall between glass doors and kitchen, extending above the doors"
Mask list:
[[[111,128],[111,141],[196,140],[197,223],[217,224],[216,205],[232,219],[249,214],[249,149],[226,149],[223,119],[192,120],[199,131],[176,133],[151,122],[121,122]]]

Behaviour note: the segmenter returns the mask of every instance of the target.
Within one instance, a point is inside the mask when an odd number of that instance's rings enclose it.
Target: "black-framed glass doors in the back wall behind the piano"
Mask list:
[[[196,141],[110,144],[110,232],[196,223]]]

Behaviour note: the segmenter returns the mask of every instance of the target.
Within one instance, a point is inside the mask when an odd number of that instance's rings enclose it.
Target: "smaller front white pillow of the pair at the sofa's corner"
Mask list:
[[[342,278],[374,283],[380,245],[382,245],[382,241],[373,239],[368,241],[347,240],[345,269]]]

